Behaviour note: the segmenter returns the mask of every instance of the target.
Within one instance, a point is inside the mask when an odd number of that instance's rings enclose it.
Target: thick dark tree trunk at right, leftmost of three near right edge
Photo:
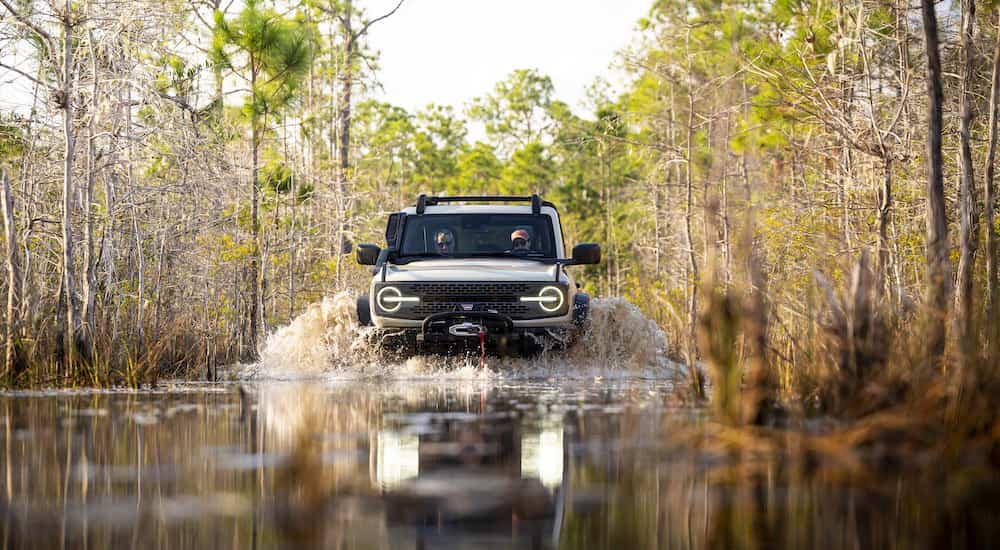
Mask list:
[[[941,54],[938,45],[934,0],[920,0],[927,45],[927,307],[926,355],[936,364],[945,346],[945,326],[951,294],[948,265],[948,220],[945,214],[944,159],[941,153],[942,104]]]

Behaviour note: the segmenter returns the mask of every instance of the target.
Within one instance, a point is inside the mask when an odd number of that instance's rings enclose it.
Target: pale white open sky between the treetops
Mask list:
[[[366,0],[369,18],[398,0]],[[515,69],[552,78],[557,99],[580,115],[587,87],[627,46],[653,0],[405,0],[372,26],[381,52],[376,97],[410,112],[428,103],[461,109]]]

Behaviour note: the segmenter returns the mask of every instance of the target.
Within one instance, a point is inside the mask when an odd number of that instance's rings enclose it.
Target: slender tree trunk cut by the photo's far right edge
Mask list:
[[[997,10],[997,25],[1000,28],[1000,10]],[[990,345],[997,346],[1000,342],[1000,329],[997,319],[997,243],[996,221],[994,213],[993,175],[994,160],[997,148],[997,108],[1000,103],[1000,31],[997,32],[996,43],[993,46],[993,79],[990,84],[990,122],[989,150],[986,154],[986,181],[984,182],[983,214],[986,226],[986,326],[991,327]]]

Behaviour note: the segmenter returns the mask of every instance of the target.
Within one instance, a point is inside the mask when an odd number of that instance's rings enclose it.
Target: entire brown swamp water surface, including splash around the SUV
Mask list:
[[[988,477],[720,445],[623,301],[569,352],[486,370],[379,360],[351,306],[314,305],[230,382],[0,394],[0,547],[1000,544]]]

